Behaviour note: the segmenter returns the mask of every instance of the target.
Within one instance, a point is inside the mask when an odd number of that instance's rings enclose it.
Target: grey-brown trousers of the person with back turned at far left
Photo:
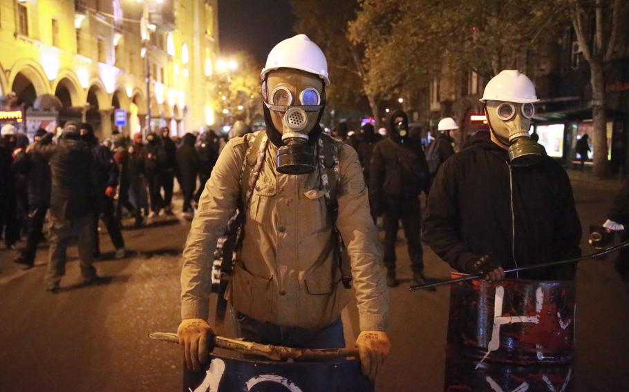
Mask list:
[[[77,237],[79,248],[79,266],[84,280],[91,280],[96,275],[92,265],[94,255],[94,215],[77,219],[55,219],[50,225],[50,249],[48,250],[48,270],[46,284],[58,284],[66,273],[66,250],[73,237]]]

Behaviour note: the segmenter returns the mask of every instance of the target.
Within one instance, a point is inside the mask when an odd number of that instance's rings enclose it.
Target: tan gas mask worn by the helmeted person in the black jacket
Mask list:
[[[498,141],[509,146],[509,161],[513,166],[536,164],[545,155],[544,148],[529,135],[535,113],[532,103],[487,101],[485,105],[489,128]]]

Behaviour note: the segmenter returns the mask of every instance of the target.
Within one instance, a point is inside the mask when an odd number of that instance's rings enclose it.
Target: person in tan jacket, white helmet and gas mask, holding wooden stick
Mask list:
[[[388,292],[357,153],[319,126],[330,83],[326,57],[306,35],[285,39],[271,50],[261,79],[267,128],[229,140],[183,253],[178,335],[187,365],[200,369],[207,360],[212,255],[242,204],[244,235],[226,293],[238,335],[283,346],[345,346],[340,315],[350,291],[335,258],[336,228],[359,309],[356,345],[373,379],[391,346]]]

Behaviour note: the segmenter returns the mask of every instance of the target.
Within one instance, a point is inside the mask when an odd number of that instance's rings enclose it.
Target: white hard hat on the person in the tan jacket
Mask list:
[[[316,43],[305,34],[290,37],[278,43],[269,53],[266,65],[260,77],[264,80],[267,73],[278,68],[293,68],[319,75],[326,86],[328,79],[328,61]]]

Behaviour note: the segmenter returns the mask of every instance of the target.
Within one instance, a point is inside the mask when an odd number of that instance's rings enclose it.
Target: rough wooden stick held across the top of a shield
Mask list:
[[[176,333],[155,332],[149,334],[153,340],[162,342],[179,343]],[[270,360],[327,360],[339,357],[358,357],[358,349],[344,347],[342,349],[294,349],[292,347],[274,346],[272,344],[260,344],[245,342],[240,339],[215,336],[214,344],[220,349],[236,351],[238,353],[261,355]]]

